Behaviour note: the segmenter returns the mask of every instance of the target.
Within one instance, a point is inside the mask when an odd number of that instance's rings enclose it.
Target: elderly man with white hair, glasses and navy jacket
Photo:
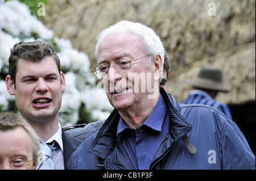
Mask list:
[[[115,109],[68,169],[255,169],[232,120],[212,107],[180,105],[159,88],[164,48],[151,28],[118,22],[100,33],[95,56],[93,71]]]

